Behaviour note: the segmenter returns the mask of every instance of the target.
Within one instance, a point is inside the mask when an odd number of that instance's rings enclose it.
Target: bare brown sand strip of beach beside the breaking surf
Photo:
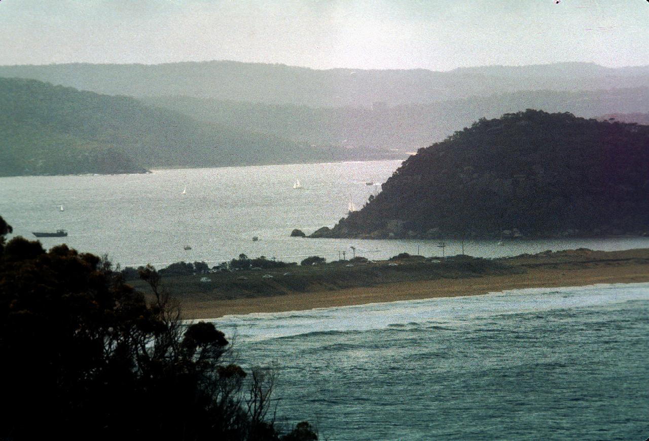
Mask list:
[[[475,296],[526,288],[578,287],[599,283],[649,282],[649,265],[625,263],[580,268],[529,268],[522,274],[384,283],[336,291],[291,292],[276,296],[235,299],[185,298],[183,318],[213,319],[225,315],[304,311],[323,307],[353,306],[402,300]]]

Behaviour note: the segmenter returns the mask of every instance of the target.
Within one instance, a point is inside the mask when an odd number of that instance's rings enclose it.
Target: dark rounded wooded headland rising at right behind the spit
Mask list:
[[[646,234],[648,195],[649,126],[526,110],[420,149],[312,237]]]

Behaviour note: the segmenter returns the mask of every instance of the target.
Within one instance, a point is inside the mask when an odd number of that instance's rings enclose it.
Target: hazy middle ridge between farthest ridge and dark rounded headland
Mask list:
[[[142,101],[205,123],[236,125],[299,143],[413,152],[481,117],[493,118],[527,108],[582,117],[642,112],[649,109],[649,88],[517,91],[428,104],[377,104],[373,108],[313,108],[180,96],[148,97]]]

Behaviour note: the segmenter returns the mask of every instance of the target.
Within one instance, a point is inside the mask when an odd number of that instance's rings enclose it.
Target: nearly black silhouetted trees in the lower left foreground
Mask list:
[[[22,237],[0,252],[0,439],[315,439],[277,433],[272,375],[227,363],[213,324],[182,325],[152,267],[147,304],[92,254]]]

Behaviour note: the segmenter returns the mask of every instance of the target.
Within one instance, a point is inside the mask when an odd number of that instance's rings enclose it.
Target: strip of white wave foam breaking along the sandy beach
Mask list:
[[[612,283],[585,287],[528,288],[482,296],[402,300],[285,313],[224,316],[214,322],[239,340],[265,340],[328,331],[367,331],[398,325],[461,324],[472,318],[533,313],[649,300],[649,283]]]

